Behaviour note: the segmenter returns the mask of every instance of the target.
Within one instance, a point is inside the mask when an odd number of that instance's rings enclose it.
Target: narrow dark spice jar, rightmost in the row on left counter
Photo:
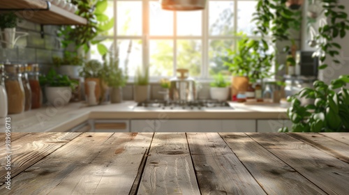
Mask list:
[[[27,73],[31,88],[31,109],[38,109],[41,107],[42,102],[42,92],[39,83],[39,65],[28,64]]]

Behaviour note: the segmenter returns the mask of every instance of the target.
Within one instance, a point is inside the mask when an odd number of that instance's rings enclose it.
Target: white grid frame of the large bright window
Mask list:
[[[201,71],[200,76],[195,77],[195,79],[199,81],[211,81],[212,77],[209,75],[209,41],[210,40],[236,40],[239,39],[238,36],[210,36],[209,35],[209,2],[210,1],[231,1],[234,3],[234,22],[233,30],[237,32],[238,27],[238,1],[256,1],[256,0],[207,0],[207,5],[205,10],[202,10],[202,29],[201,36],[177,36],[177,11],[173,11],[174,22],[173,22],[173,36],[150,36],[150,22],[149,22],[149,2],[157,1],[157,0],[108,0],[113,1],[113,13],[114,13],[114,35],[113,36],[98,36],[103,39],[112,39],[114,41],[113,47],[114,50],[117,49],[118,40],[142,40],[142,66],[143,68],[147,68],[149,64],[150,56],[149,56],[149,40],[172,40],[173,41],[173,75],[176,75],[177,69],[177,40],[201,40],[202,42],[202,51],[201,51]],[[142,3],[142,35],[140,36],[118,36],[117,35],[117,2],[118,1],[140,1]],[[248,38],[260,38],[260,36],[247,36]],[[234,45],[235,49],[237,45]],[[158,81],[165,76],[151,76],[150,81]],[[166,78],[166,77],[165,77]],[[169,78],[169,77],[167,77]],[[129,81],[133,81],[134,77],[129,77]]]

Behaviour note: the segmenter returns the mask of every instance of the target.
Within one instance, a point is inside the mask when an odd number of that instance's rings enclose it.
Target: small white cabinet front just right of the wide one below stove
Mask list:
[[[222,120],[221,132],[255,132],[255,120]]]

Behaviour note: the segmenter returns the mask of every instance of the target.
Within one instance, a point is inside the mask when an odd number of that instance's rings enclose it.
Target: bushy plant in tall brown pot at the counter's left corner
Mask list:
[[[84,77],[84,92],[87,104],[96,105],[102,98],[101,69],[103,65],[98,60],[90,60],[84,63],[80,77]]]

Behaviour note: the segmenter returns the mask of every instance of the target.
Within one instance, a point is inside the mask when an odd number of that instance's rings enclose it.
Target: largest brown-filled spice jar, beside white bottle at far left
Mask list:
[[[5,65],[5,87],[8,102],[8,114],[20,114],[24,111],[25,94],[22,83],[21,65]]]

